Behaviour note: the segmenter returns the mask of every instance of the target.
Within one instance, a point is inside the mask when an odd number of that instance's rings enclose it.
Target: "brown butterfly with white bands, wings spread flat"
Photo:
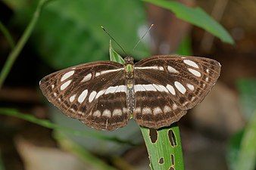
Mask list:
[[[158,129],[200,103],[221,67],[209,58],[179,55],[124,61],[84,63],[52,73],[39,83],[42,94],[62,113],[92,128],[112,131],[133,118]]]

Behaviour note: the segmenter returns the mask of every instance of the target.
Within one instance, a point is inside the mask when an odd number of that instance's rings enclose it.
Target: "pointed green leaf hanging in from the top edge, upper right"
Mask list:
[[[214,36],[220,38],[223,42],[234,44],[233,38],[229,35],[229,32],[223,28],[216,20],[209,16],[201,8],[189,8],[180,2],[166,1],[166,0],[142,0],[144,2],[150,2],[153,5],[157,5],[161,8],[166,8],[172,11],[176,17],[181,20],[185,20],[188,23],[192,23],[195,26],[211,32]]]

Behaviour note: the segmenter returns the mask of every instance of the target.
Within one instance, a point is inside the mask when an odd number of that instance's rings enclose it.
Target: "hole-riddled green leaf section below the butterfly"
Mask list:
[[[140,128],[145,140],[152,170],[184,170],[183,150],[179,127],[174,123],[169,128],[153,130]],[[154,139],[155,138],[155,139]]]

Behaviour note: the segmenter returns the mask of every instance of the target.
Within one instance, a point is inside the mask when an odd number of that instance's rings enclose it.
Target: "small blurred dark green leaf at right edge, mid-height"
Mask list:
[[[239,100],[246,119],[251,119],[251,114],[256,110],[256,80],[240,79],[237,82]]]

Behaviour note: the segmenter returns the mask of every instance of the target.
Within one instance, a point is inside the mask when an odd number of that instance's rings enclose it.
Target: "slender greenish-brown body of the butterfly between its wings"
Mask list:
[[[125,57],[124,58],[124,66],[125,66],[125,74],[126,74],[126,107],[130,114],[133,113],[135,109],[135,91],[134,91],[134,79],[133,79],[133,71],[134,71],[134,63],[133,57]]]

